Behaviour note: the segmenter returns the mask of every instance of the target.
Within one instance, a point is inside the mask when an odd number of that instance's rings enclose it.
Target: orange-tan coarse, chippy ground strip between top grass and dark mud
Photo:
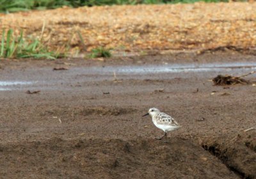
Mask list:
[[[0,29],[40,36],[45,23],[43,40],[58,51],[67,44],[82,52],[249,48],[256,47],[255,10],[256,3],[63,7],[0,14]]]

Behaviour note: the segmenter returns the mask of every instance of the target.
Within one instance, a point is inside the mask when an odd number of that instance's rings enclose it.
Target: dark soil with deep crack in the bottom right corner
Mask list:
[[[202,147],[218,157],[241,178],[256,178],[256,132],[240,132],[236,136],[208,138]]]

